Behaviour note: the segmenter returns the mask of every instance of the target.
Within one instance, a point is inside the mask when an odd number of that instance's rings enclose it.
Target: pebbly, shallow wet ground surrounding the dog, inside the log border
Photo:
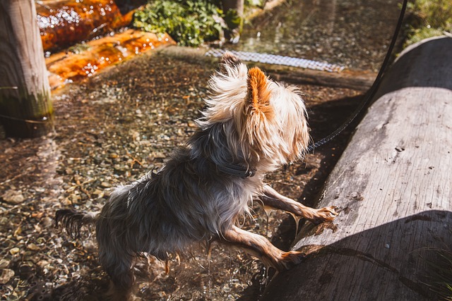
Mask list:
[[[102,300],[108,277],[93,233],[72,240],[54,228],[57,209],[97,211],[119,185],[165,164],[194,132],[215,63],[145,54],[54,94],[55,132],[0,140],[1,300]],[[355,109],[359,92],[301,85],[314,140]],[[279,192],[314,205],[350,130],[305,161],[267,177]],[[295,238],[288,214],[258,205],[244,228],[287,250]],[[152,261],[152,260],[151,260]],[[221,245],[165,263],[138,262],[141,300],[257,300],[273,271]]]

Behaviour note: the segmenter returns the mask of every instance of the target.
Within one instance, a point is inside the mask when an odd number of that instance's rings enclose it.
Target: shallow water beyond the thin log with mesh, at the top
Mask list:
[[[233,48],[375,71],[399,12],[395,0],[287,1],[246,25]]]

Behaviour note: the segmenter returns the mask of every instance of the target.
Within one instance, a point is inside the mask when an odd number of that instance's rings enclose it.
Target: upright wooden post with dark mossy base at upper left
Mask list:
[[[34,0],[0,1],[0,121],[9,137],[53,130],[49,80]]]

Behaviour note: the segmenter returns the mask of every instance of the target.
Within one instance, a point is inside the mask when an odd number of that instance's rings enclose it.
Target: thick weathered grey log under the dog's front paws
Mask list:
[[[407,49],[328,178],[331,224],[302,227],[306,262],[263,300],[434,300],[429,264],[452,246],[452,39]]]

